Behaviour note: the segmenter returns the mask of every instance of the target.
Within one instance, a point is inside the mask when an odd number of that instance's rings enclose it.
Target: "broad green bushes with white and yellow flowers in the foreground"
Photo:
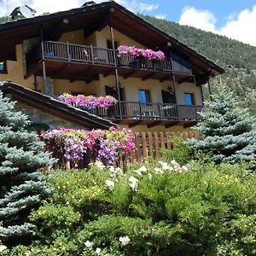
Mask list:
[[[253,255],[255,177],[195,161],[54,172],[26,255]]]

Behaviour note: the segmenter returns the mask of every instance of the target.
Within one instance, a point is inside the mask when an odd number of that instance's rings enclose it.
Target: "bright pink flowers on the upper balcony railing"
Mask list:
[[[164,61],[165,54],[162,51],[154,51],[153,49],[142,49],[135,46],[120,45],[118,48],[119,55],[131,55],[134,57],[143,56],[148,60]]]

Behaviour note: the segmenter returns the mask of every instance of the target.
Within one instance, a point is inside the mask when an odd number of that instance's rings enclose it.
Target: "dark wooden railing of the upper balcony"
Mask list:
[[[114,62],[114,55],[117,63]],[[44,41],[26,54],[26,67],[32,67],[40,59],[83,62],[92,65],[110,67],[131,67],[136,69],[158,70],[172,73],[172,59],[164,61],[148,60],[131,55],[118,55],[113,49],[94,47],[92,45],[69,44]]]

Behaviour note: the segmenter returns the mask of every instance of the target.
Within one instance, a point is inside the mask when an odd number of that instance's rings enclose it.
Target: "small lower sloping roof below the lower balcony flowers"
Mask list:
[[[62,119],[67,119],[70,122],[89,127],[90,129],[109,129],[111,126],[115,126],[108,119],[102,119],[85,110],[74,108],[64,102],[60,102],[50,96],[30,90],[19,84],[3,82],[3,85],[0,85],[0,90],[3,91],[4,95],[11,94],[18,102],[24,102],[33,108],[58,115]]]

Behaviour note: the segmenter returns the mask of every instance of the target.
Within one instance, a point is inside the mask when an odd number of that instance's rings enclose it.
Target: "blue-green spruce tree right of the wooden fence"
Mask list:
[[[225,86],[226,87],[226,86]],[[203,122],[196,127],[204,136],[202,140],[189,141],[195,149],[209,154],[210,160],[220,163],[250,162],[256,169],[256,122],[249,111],[230,91],[219,86],[212,101],[201,113]]]

